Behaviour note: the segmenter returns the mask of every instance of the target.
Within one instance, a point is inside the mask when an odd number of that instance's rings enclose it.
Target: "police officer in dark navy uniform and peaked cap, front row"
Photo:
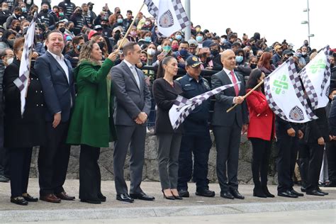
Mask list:
[[[186,99],[210,91],[210,86],[206,79],[200,77],[201,60],[196,56],[186,59],[186,74],[178,79],[182,86],[183,94]],[[208,187],[208,156],[212,145],[209,132],[209,108],[210,101],[203,102],[196,107],[184,121],[184,135],[181,140],[179,151],[179,179],[177,189],[182,197],[189,197],[187,182],[191,176],[196,182],[196,195],[213,197],[214,191]],[[194,154],[194,172],[193,160]]]

